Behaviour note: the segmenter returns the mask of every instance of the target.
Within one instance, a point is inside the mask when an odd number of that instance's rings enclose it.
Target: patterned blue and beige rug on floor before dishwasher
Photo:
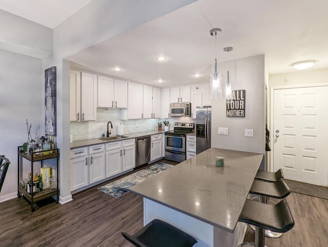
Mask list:
[[[172,166],[173,165],[169,165],[166,163],[157,163],[146,169],[142,169],[136,173],[130,174],[129,176],[101,186],[98,189],[99,191],[105,192],[106,194],[117,198],[127,193],[127,188],[141,183],[142,181],[145,181],[146,179],[151,178],[156,174],[163,172],[163,170],[169,169]]]

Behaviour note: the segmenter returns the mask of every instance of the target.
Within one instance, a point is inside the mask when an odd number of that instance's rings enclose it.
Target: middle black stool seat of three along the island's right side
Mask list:
[[[273,183],[254,179],[250,193],[283,199],[291,194],[291,190],[282,178]]]

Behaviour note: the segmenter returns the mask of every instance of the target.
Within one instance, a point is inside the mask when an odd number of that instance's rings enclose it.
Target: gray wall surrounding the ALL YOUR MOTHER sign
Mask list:
[[[229,62],[233,90],[246,90],[245,117],[226,117],[226,101],[212,100],[212,147],[265,153],[264,55]],[[219,63],[222,82],[226,82],[227,63]],[[228,127],[229,136],[218,135],[218,127]],[[254,137],[245,137],[245,128],[254,129]]]

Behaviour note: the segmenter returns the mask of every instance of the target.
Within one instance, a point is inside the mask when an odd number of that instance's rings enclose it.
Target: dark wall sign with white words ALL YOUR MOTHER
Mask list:
[[[227,102],[227,117],[245,117],[245,92],[246,90],[233,90],[232,97]]]

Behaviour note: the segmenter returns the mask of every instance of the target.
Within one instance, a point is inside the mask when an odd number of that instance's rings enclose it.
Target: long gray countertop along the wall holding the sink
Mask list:
[[[96,145],[96,144],[103,144],[107,142],[116,142],[116,141],[122,141],[122,140],[128,140],[131,138],[138,138],[138,137],[144,137],[144,136],[150,136],[150,135],[156,135],[156,134],[161,134],[164,133],[164,130],[151,130],[151,131],[144,131],[144,132],[137,132],[137,133],[131,133],[124,135],[123,137],[127,138],[122,138],[122,139],[117,139],[117,140],[100,140],[99,138],[94,138],[94,139],[88,139],[88,140],[81,140],[81,141],[75,141],[70,143],[70,148],[76,148],[76,147],[84,147],[84,146],[90,146],[90,145]]]

